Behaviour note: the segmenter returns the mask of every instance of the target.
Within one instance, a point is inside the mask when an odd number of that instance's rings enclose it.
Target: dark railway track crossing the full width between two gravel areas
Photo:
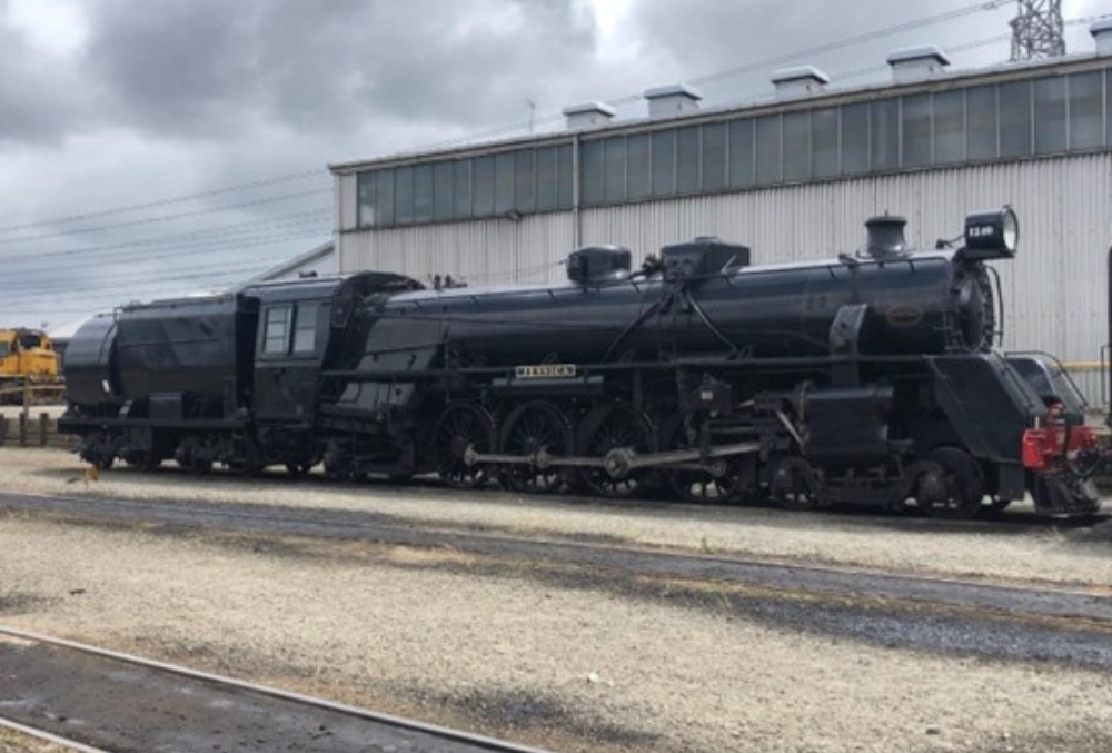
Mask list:
[[[169,533],[310,537],[450,548],[499,573],[526,562],[558,585],[682,600],[709,586],[749,620],[885,646],[1112,668],[1112,591],[994,584],[616,543],[427,527],[374,513],[0,494],[0,512]],[[685,600],[685,596],[688,598]],[[721,600],[719,600],[721,601]]]

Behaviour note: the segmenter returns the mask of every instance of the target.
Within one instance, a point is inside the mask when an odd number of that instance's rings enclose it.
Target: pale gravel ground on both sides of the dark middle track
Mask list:
[[[58,453],[0,452],[0,487],[358,507],[883,569],[1112,584],[1112,545],[1053,526],[925,535],[853,516],[126,472],[67,484],[79,468]],[[539,577],[528,563],[488,565],[451,551],[8,516],[0,622],[562,751],[1112,749],[1105,673],[773,626],[713,588],[677,603]]]

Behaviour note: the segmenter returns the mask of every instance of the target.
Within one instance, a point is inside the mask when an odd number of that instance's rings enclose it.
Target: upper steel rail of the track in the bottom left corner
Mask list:
[[[68,641],[66,638],[56,638],[49,635],[32,633],[29,631],[19,630],[17,627],[11,627],[8,625],[0,624],[0,635],[7,635],[9,637],[18,638],[21,641],[30,641],[32,643],[41,643],[51,646],[58,646],[61,648],[69,648],[71,651],[81,652],[92,656],[99,656],[101,658],[109,658],[126,664],[132,664],[135,666],[143,667],[146,670],[155,670],[158,672],[165,672],[181,677],[199,680],[201,682],[210,683],[218,687],[247,691],[249,693],[256,693],[258,695],[264,695],[271,698],[278,698],[280,701],[289,701],[291,703],[300,704],[302,706],[308,706],[311,709],[321,709],[325,711],[336,712],[339,714],[345,714],[347,716],[353,716],[356,719],[366,720],[378,724],[389,725],[400,730],[407,730],[410,732],[421,732],[444,740],[473,745],[475,747],[479,747],[483,750],[494,751],[495,753],[552,753],[550,751],[546,751],[539,747],[519,745],[517,743],[510,743],[503,740],[497,740],[495,737],[488,737],[486,735],[475,734],[470,732],[463,732],[459,730],[453,730],[450,727],[440,726],[437,724],[419,722],[417,720],[406,719],[404,716],[395,716],[394,714],[386,714],[383,712],[371,711],[369,709],[353,706],[345,703],[337,703],[335,701],[328,701],[327,698],[319,698],[302,693],[295,693],[292,691],[284,691],[278,687],[261,685],[258,683],[252,683],[244,680],[236,680],[235,677],[214,674],[211,672],[191,670],[189,667],[181,666],[179,664],[171,664],[168,662],[159,662],[156,660],[143,658],[141,656],[136,656],[133,654],[126,654],[117,651],[110,651],[108,648],[100,648],[98,646],[91,646],[85,643],[78,643],[76,641]],[[97,751],[96,749],[88,749],[88,750],[92,751],[92,753],[105,753],[103,751]]]

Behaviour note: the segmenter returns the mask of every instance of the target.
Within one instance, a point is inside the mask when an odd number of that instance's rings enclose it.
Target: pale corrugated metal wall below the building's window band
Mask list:
[[[355,180],[338,178],[341,227],[354,217]],[[579,245],[620,244],[639,258],[662,245],[713,235],[753,247],[754,261],[828,258],[864,245],[863,222],[885,211],[909,220],[907,239],[930,248],[962,231],[965,214],[1011,204],[1019,256],[997,262],[1004,286],[1006,349],[1096,360],[1108,336],[1108,252],[1112,245],[1112,153],[957,167],[743,194],[583,210]],[[471,284],[560,279],[576,246],[573,212],[427,225],[339,236],[340,268],[386,269]],[[1098,397],[1096,375],[1085,377]]]

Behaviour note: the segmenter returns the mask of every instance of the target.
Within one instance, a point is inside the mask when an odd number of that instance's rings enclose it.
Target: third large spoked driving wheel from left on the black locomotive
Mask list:
[[[584,417],[576,447],[587,457],[604,458],[612,450],[648,454],[653,452],[653,424],[628,403],[599,406]],[[635,468],[612,475],[605,467],[596,466],[584,468],[579,475],[593,493],[609,499],[627,499],[644,492],[652,470]]]

